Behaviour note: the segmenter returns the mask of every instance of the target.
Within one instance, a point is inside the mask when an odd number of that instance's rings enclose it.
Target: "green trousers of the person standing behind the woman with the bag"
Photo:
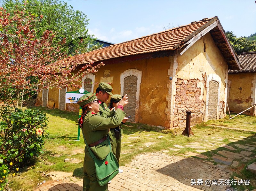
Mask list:
[[[110,129],[110,131],[109,131],[112,152],[116,156],[116,159],[118,162],[119,162],[120,155],[121,155],[122,134],[123,134],[123,129],[120,128],[120,137],[119,137],[119,139],[116,139],[114,129]]]

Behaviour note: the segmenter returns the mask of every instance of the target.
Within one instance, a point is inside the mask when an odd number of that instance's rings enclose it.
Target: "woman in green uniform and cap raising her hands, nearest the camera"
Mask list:
[[[114,108],[116,112],[109,118],[97,114],[100,111],[99,100],[94,93],[85,94],[77,102],[83,110],[79,124],[83,124],[84,138],[92,152],[100,159],[106,157],[110,151],[107,139],[108,129],[118,126],[124,119],[124,106],[128,103],[126,96]],[[85,147],[84,153],[83,191],[107,191],[108,184],[100,186],[97,181],[95,164],[87,147]]]

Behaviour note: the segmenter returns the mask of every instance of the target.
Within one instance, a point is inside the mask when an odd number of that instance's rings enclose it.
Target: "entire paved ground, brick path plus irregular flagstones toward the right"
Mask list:
[[[204,140],[204,143],[189,142],[186,145],[173,145],[173,148],[166,148],[162,152],[148,153],[136,156],[130,164],[122,166],[123,173],[119,173],[108,185],[109,191],[149,191],[149,190],[226,190],[225,183],[230,177],[230,168],[239,168],[246,161],[255,158],[256,136],[239,136],[237,138],[225,137],[232,144],[226,145],[223,137],[214,137],[212,140]],[[201,139],[201,142],[203,139]],[[244,141],[250,141],[246,144]],[[233,144],[234,143],[234,144]],[[154,144],[149,142],[148,145]],[[167,153],[178,151],[181,148],[193,149],[187,152],[184,157],[170,156]],[[222,148],[208,158],[207,153],[214,148]],[[238,149],[239,152],[237,151]],[[198,158],[191,158],[196,156]],[[201,160],[208,159],[207,161]],[[214,165],[213,162],[217,163]],[[63,172],[62,172],[63,173]],[[67,175],[68,176],[68,175]],[[191,179],[203,179],[202,185],[191,185]],[[215,181],[219,186],[205,185],[205,180]],[[198,183],[198,182],[197,182]],[[214,185],[214,186],[213,186]],[[77,180],[72,175],[69,178],[46,182],[36,191],[73,191],[82,190],[83,181]]]

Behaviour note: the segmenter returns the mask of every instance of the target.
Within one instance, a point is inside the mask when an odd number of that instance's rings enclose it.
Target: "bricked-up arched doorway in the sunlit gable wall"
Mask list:
[[[217,118],[218,87],[219,87],[218,82],[210,81],[210,83],[209,83],[208,119],[216,119]]]

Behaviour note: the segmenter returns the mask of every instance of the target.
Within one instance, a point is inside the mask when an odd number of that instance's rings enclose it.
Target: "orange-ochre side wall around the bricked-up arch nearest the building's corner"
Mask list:
[[[98,87],[97,83],[105,80],[104,82],[109,81],[113,87],[113,94],[120,94],[120,74],[129,69],[139,70],[142,75],[138,122],[164,126],[164,121],[166,121],[165,108],[167,106],[166,95],[168,94],[166,86],[167,81],[169,81],[167,71],[169,67],[168,57],[137,60],[113,65],[108,64],[100,67],[98,73],[95,74],[96,85],[94,86],[94,91]],[[104,78],[105,70],[110,71],[110,73]]]

